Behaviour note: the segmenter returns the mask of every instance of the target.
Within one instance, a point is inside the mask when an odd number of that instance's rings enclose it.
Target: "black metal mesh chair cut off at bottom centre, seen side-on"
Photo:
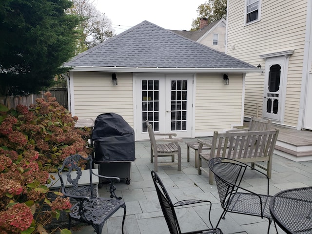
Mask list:
[[[191,205],[196,203],[202,203],[202,202],[208,202],[210,203],[209,208],[209,222],[210,225],[213,227],[211,220],[210,220],[210,212],[211,212],[211,202],[206,200],[182,200],[178,201],[175,204],[172,203],[167,190],[165,186],[163,185],[162,181],[160,180],[159,176],[156,174],[156,172],[152,171],[152,178],[154,181],[154,185],[156,188],[157,196],[159,199],[159,203],[161,206],[162,213],[165,217],[165,220],[167,222],[169,232],[170,234],[182,234],[179,222],[176,217],[176,207],[185,206],[185,205]],[[199,231],[192,231],[187,232],[184,234],[223,234],[222,231],[219,228],[211,228],[211,229],[205,229],[205,230],[199,230]]]

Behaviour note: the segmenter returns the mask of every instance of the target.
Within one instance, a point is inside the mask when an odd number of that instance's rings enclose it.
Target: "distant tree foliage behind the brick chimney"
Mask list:
[[[208,24],[220,20],[226,19],[227,0],[210,0],[209,2],[200,4],[197,8],[198,17],[192,22],[191,31],[199,29],[200,19],[205,18],[208,20]]]

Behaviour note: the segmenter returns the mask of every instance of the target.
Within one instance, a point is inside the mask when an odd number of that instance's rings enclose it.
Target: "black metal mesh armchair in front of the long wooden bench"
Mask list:
[[[227,212],[232,212],[267,218],[269,220],[269,234],[273,218],[270,214],[270,201],[272,196],[269,195],[268,176],[245,163],[229,158],[215,157],[209,160],[208,165],[210,170],[215,175],[215,183],[218,189],[221,206],[224,210],[216,227],[219,225],[221,218],[225,219]],[[266,176],[266,195],[256,194],[240,186],[247,168],[253,169],[254,171]],[[277,232],[275,222],[274,226]]]

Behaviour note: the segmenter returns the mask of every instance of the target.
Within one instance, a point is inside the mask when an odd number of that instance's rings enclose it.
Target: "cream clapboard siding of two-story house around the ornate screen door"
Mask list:
[[[265,68],[259,56],[294,50],[289,58],[284,124],[296,126],[299,115],[307,0],[262,1],[261,21],[246,25],[244,1],[229,0],[227,54]],[[231,10],[233,9],[233,10]],[[234,49],[233,49],[234,48]],[[230,81],[231,82],[231,81]],[[262,116],[264,75],[246,74],[246,117]]]

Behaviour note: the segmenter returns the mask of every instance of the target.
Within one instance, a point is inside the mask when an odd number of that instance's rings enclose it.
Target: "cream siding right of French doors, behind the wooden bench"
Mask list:
[[[195,137],[224,132],[242,120],[243,75],[197,74],[195,95]]]

